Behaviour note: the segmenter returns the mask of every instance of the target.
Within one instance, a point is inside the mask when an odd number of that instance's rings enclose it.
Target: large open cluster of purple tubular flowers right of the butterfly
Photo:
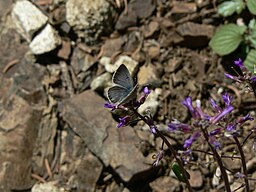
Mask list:
[[[220,107],[213,99],[210,99],[214,114],[205,113],[201,108],[200,100],[196,101],[196,106],[193,106],[192,98],[187,97],[182,104],[188,108],[194,122],[192,125],[180,123],[175,120],[168,125],[171,132],[190,133],[190,136],[185,140],[183,147],[187,150],[191,148],[193,143],[202,135],[202,131],[206,131],[208,141],[215,149],[221,149],[220,139],[222,136],[233,136],[238,134],[237,127],[244,124],[246,121],[252,121],[253,118],[248,114],[238,120],[230,121],[228,115],[234,110],[232,105],[233,97],[227,93],[222,95],[225,103],[224,107]]]

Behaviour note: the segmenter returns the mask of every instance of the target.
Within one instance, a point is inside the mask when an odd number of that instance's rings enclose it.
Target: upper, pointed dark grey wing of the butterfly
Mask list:
[[[113,75],[113,83],[131,91],[134,88],[133,79],[124,64],[121,64]]]

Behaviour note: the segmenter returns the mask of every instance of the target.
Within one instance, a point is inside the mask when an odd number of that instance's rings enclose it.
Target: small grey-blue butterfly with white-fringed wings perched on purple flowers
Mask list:
[[[137,96],[137,84],[124,64],[121,64],[113,75],[112,82],[115,84],[108,89],[107,96],[110,102],[117,105],[128,103]]]

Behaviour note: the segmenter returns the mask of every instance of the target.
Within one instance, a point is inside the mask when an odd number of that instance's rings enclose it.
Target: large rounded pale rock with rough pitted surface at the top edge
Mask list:
[[[66,19],[85,43],[92,44],[112,31],[114,7],[106,0],[68,0]]]

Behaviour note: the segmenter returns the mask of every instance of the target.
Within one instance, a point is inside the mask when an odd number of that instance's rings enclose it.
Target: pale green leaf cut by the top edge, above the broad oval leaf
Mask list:
[[[244,8],[243,0],[225,1],[218,6],[218,13],[223,17],[228,17],[235,12],[240,14]]]

